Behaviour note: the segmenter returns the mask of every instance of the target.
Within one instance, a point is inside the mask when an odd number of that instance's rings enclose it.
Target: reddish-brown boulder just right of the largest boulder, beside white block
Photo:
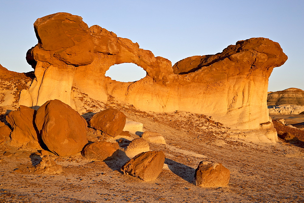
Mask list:
[[[95,129],[101,130],[110,136],[117,136],[125,127],[126,116],[113,108],[95,113],[89,121],[89,125]]]

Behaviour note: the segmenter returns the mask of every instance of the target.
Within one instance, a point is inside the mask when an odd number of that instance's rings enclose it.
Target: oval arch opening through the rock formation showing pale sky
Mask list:
[[[147,72],[133,63],[115,64],[105,72],[105,76],[119,82],[135,82],[146,77]]]

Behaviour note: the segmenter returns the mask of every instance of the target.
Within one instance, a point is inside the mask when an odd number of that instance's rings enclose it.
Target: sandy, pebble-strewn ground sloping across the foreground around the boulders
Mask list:
[[[227,202],[304,201],[304,149],[282,139],[275,146],[258,145],[229,137],[229,129],[216,126],[204,115],[186,112],[156,114],[120,108],[127,119],[144,124],[144,131],[160,132],[164,169],[153,182],[122,174],[126,157],[97,162],[80,154],[56,157],[60,175],[29,172],[41,159],[36,151],[0,146],[0,201],[40,202]],[[304,141],[304,140],[302,140]],[[3,153],[9,151],[10,157]],[[200,188],[192,184],[202,160],[222,163],[231,172],[226,187]],[[22,172],[14,172],[21,169]],[[21,171],[17,170],[17,171]]]

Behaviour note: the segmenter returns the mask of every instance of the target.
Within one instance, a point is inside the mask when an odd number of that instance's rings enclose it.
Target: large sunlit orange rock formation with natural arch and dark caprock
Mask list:
[[[142,111],[211,115],[232,129],[255,129],[276,139],[266,104],[268,77],[287,60],[276,42],[238,41],[222,53],[189,57],[172,67],[131,40],[100,26],[88,28],[76,15],[48,15],[34,27],[39,43],[27,58],[36,64],[36,79],[21,92],[19,104],[40,106],[59,99],[83,113],[85,104],[78,99],[83,94],[101,102],[111,95]],[[147,76],[130,83],[105,77],[109,67],[121,63],[137,64]]]

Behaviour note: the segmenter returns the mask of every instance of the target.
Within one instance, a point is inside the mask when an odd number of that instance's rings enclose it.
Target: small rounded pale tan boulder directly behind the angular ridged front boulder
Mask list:
[[[147,140],[143,138],[136,138],[131,141],[127,146],[125,153],[129,158],[135,157],[137,154],[142,152],[150,151],[150,146]]]

